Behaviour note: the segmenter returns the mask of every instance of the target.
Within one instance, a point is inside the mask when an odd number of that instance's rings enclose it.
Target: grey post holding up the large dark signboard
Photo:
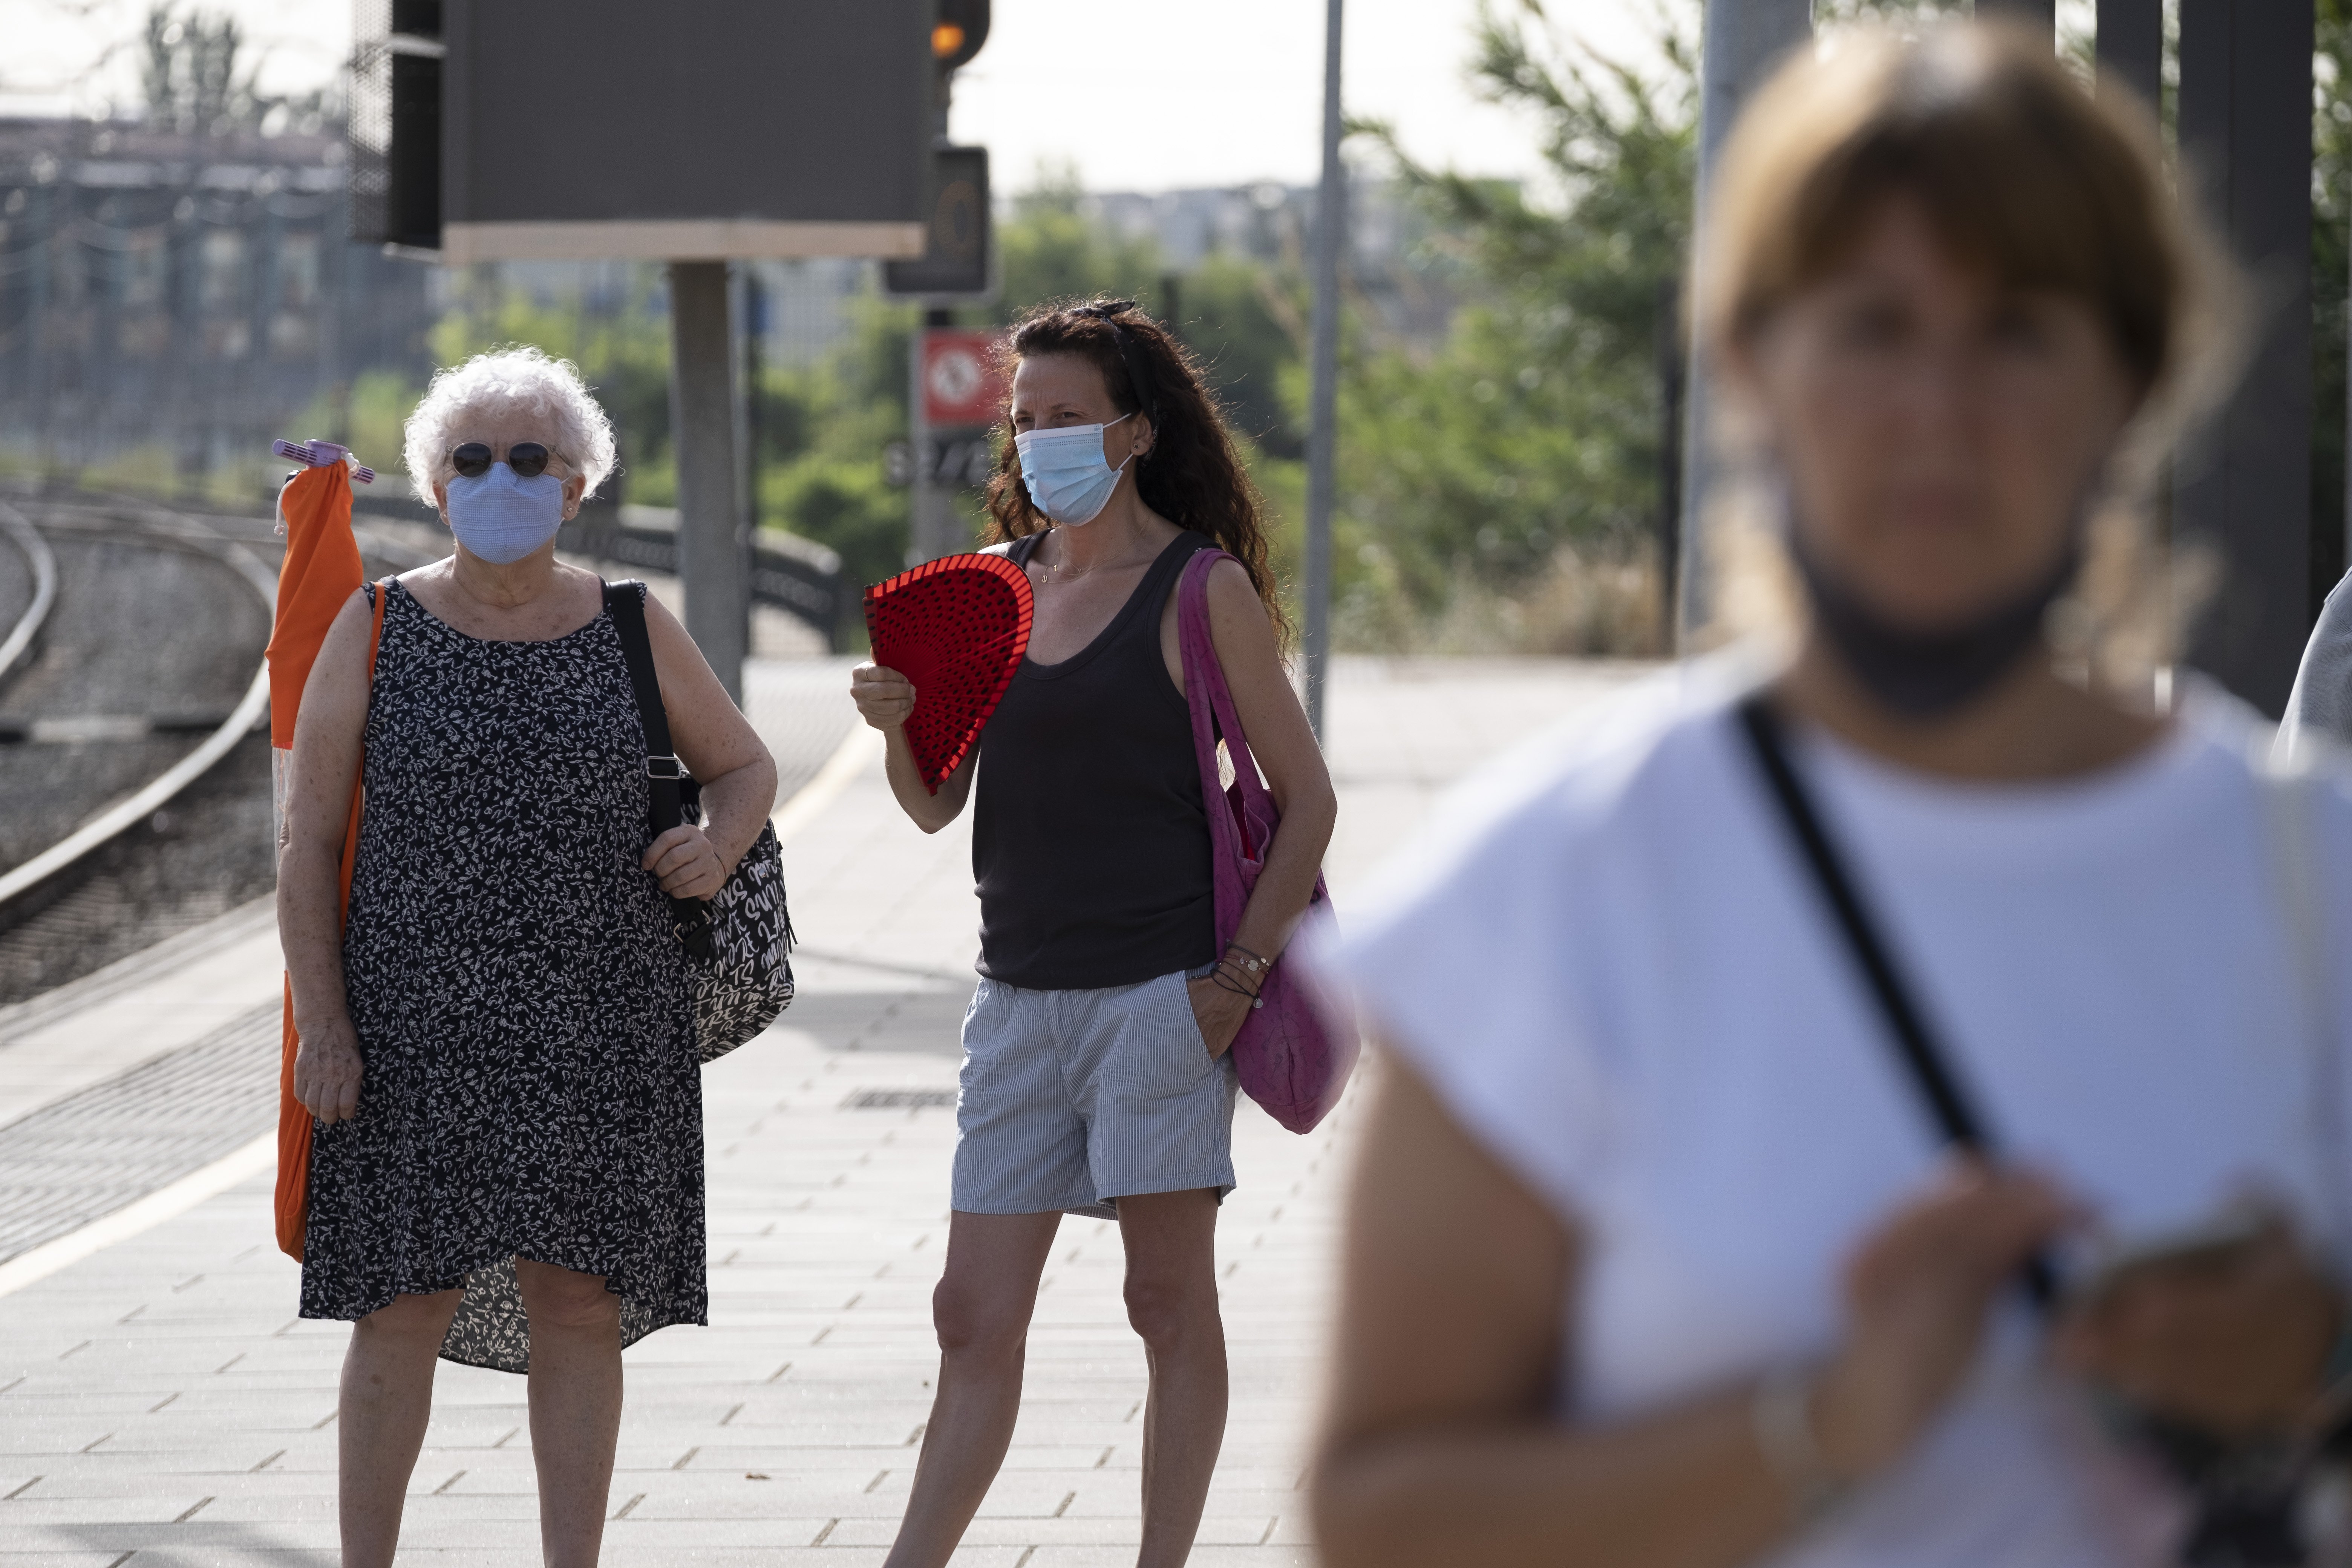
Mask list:
[[[687,635],[743,703],[750,559],[736,496],[734,331],[727,263],[670,263],[670,435],[677,444],[677,578]]]

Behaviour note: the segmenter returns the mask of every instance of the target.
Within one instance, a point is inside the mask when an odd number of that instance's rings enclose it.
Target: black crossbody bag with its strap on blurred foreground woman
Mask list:
[[[1992,1138],[1983,1119],[1969,1105],[1959,1079],[1952,1077],[1943,1046],[1912,1001],[1910,985],[1896,969],[1886,943],[1879,940],[1860,891],[1823,827],[1813,797],[1788,759],[1778,715],[1759,691],[1740,703],[1738,719],[1757,771],[1764,773],[1764,783],[1771,785],[1773,802],[1780,806],[1780,820],[1804,853],[1813,884],[1846,938],[1853,966],[1863,971],[1870,997],[1879,1006],[1886,1032],[1919,1091],[1919,1100],[1933,1117],[1936,1131],[1943,1133],[1945,1143],[1990,1154]],[[2034,1255],[2025,1262],[2023,1286],[2044,1316],[2056,1312],[2058,1284],[2049,1258]],[[2183,1563],[2190,1568],[2293,1568],[2307,1561],[2300,1512],[2303,1490],[2312,1474],[2310,1465],[2321,1453],[2340,1455],[2347,1441],[2345,1427],[2338,1425],[2310,1448],[2277,1453],[2232,1448],[2206,1432],[2131,1410],[2122,1401],[2107,1401],[2105,1413],[2119,1436],[2154,1453],[2187,1490],[2190,1521],[2178,1544]]]

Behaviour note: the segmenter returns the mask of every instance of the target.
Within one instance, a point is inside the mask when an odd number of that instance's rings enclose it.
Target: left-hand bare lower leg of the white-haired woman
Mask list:
[[[463,1291],[395,1295],[350,1326],[336,1399],[336,1509],[343,1568],[390,1568],[400,1505],[426,1446],[433,1363]]]

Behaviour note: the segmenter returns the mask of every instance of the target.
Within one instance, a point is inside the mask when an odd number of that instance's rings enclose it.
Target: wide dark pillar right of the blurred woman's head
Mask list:
[[[2312,0],[2180,0],[2180,155],[2256,280],[2246,374],[2173,465],[2223,555],[2190,663],[2277,715],[2312,628]],[[2317,588],[2324,588],[2317,585]]]

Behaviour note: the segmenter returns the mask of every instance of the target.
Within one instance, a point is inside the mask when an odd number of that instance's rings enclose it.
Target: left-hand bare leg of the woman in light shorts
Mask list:
[[[884,1568],[943,1568],[1004,1465],[1021,1415],[1021,1363],[1037,1276],[1061,1213],[955,1213],[948,1269],[931,1293],[938,1394],[915,1460],[915,1493]]]

